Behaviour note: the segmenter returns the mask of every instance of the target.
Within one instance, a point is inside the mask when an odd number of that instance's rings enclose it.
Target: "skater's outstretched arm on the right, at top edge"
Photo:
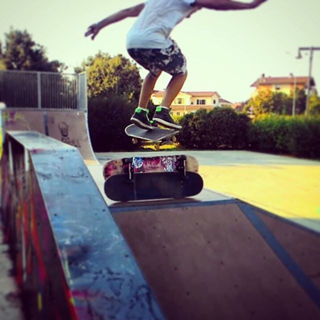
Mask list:
[[[267,0],[253,0],[250,3],[232,0],[195,0],[193,5],[214,10],[244,10],[254,9]]]

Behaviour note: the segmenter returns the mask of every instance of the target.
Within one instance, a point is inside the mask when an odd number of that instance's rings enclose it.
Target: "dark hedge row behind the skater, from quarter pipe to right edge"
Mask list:
[[[91,98],[88,122],[95,152],[132,150],[124,128],[135,104],[118,96]],[[150,117],[154,106],[150,105]],[[179,143],[190,149],[250,149],[320,158],[320,116],[262,115],[250,120],[230,107],[199,109],[179,119]]]

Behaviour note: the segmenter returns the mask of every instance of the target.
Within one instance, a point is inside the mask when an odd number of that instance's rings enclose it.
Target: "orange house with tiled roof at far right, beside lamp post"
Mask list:
[[[311,87],[315,86],[314,79],[310,78]],[[265,76],[264,73],[255,80],[251,85],[255,87],[252,96],[258,94],[261,90],[270,90],[272,92],[283,92],[290,94],[294,90],[294,86],[297,89],[306,89],[308,86],[307,76]]]

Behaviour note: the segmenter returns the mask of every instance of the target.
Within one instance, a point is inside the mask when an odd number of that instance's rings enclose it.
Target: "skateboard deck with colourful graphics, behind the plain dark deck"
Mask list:
[[[181,161],[184,160],[186,171],[198,172],[198,162],[191,155],[136,156],[106,162],[103,166],[103,177],[107,179],[114,174],[128,173],[129,165],[133,173],[178,172]]]

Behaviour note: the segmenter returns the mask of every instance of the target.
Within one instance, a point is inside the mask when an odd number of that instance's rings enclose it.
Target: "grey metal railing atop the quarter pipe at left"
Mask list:
[[[86,73],[0,70],[0,101],[8,108],[86,110]]]

